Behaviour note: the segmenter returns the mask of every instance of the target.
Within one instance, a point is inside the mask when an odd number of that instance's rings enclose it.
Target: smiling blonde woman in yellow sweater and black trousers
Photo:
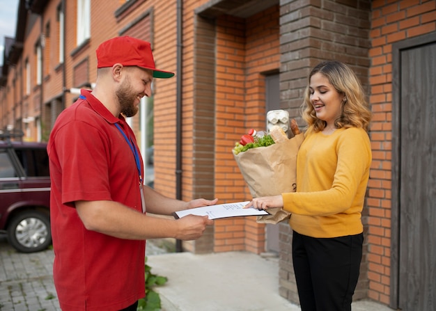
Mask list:
[[[371,111],[355,73],[338,61],[313,68],[303,106],[309,127],[297,157],[297,192],[254,198],[247,207],[292,213],[303,311],[351,310],[364,241]]]

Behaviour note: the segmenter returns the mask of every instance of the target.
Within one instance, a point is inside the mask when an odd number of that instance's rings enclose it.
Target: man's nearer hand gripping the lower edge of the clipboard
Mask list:
[[[207,225],[213,225],[213,221],[208,216],[187,215],[176,221],[178,233],[176,239],[195,240],[203,235]]]

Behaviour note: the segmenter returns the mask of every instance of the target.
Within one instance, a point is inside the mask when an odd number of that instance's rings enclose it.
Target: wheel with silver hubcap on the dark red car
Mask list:
[[[22,253],[45,250],[52,244],[49,215],[39,211],[17,214],[8,225],[8,241]]]

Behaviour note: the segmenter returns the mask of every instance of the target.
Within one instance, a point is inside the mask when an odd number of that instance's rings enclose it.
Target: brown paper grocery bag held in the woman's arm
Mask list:
[[[253,198],[295,192],[297,153],[303,140],[304,134],[300,133],[288,141],[234,155]],[[290,213],[280,207],[267,212],[270,215],[257,216],[258,223],[275,224],[290,218]]]

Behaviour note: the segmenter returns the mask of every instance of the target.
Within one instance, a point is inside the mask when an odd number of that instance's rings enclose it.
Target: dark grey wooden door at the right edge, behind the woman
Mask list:
[[[399,102],[393,103],[399,105],[398,308],[410,311],[436,310],[436,35],[425,38],[398,51]]]

